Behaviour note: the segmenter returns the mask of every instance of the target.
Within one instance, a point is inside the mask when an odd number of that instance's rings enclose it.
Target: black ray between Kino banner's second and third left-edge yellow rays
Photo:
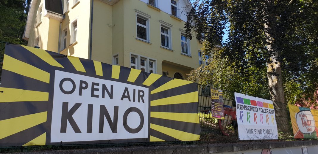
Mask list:
[[[47,103],[47,101],[0,103],[0,120],[45,112],[48,109]]]

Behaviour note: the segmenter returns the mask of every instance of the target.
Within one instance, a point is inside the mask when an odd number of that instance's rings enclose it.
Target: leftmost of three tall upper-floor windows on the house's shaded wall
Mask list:
[[[137,15],[137,38],[149,42],[149,19]]]

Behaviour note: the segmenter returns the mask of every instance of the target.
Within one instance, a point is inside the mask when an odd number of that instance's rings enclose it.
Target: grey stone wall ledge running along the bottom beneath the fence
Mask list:
[[[198,145],[158,145],[158,146],[136,146],[119,148],[99,148],[83,150],[56,150],[24,152],[21,154],[207,154],[231,151],[247,151],[266,148],[286,148],[295,146],[318,145],[318,140],[306,141],[265,141],[226,144],[198,144]],[[17,153],[15,153],[17,154]]]

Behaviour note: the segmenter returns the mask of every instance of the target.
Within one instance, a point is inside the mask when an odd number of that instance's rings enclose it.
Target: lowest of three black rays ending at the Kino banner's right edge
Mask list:
[[[150,118],[150,123],[172,128],[172,129],[183,131],[183,132],[197,134],[197,135],[200,135],[200,132],[201,132],[200,124],[197,124],[197,123],[175,121],[175,120],[168,120],[168,119],[159,119],[159,118]]]

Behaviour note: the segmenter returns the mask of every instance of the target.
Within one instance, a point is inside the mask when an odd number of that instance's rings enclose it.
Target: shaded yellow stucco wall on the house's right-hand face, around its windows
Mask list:
[[[130,67],[130,53],[143,55],[146,57],[154,58],[157,60],[157,74],[162,74],[162,61],[171,61],[192,69],[198,67],[198,45],[197,40],[190,41],[191,56],[181,54],[181,31],[184,29],[185,22],[178,21],[172,18],[169,14],[163,11],[157,11],[148,7],[146,3],[139,0],[123,1],[124,6],[124,63],[123,66]],[[139,10],[151,16],[149,19],[150,43],[136,40],[136,12]],[[115,15],[114,15],[115,16]],[[115,18],[115,17],[113,17]],[[172,50],[160,48],[161,46],[161,33],[160,22],[162,20],[172,25]],[[169,68],[165,68],[169,70]],[[172,69],[172,68],[171,68]]]

